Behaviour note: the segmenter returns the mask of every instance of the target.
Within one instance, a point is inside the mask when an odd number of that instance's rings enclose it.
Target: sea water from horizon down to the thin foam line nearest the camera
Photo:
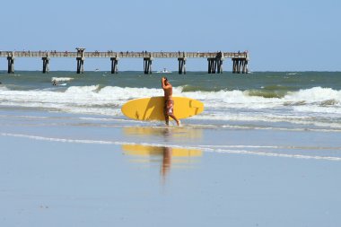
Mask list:
[[[120,110],[127,100],[162,96],[162,76],[169,78],[174,96],[201,100],[205,105],[200,115],[183,119],[183,127],[172,127],[166,132],[163,122],[132,120]],[[81,130],[69,134],[67,139],[192,147],[221,153],[335,160],[341,157],[337,139],[341,133],[338,72],[41,74],[22,71],[3,72],[0,81],[3,134],[47,135],[48,130],[44,132],[43,128],[34,131],[33,127],[26,127],[28,131],[22,132],[18,122],[67,126],[66,135],[92,126],[101,128],[101,133],[83,138],[77,136],[82,135]],[[175,126],[174,122],[171,124]],[[108,135],[117,127],[123,132],[113,140]],[[165,136],[168,134],[172,136]]]

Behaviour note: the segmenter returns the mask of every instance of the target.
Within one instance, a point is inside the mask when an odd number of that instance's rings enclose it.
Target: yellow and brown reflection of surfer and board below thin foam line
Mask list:
[[[124,144],[122,145],[122,150],[127,155],[142,157],[142,162],[161,162],[163,179],[170,172],[171,165],[188,168],[193,161],[197,161],[196,157],[202,156],[202,151],[200,150],[142,144]]]

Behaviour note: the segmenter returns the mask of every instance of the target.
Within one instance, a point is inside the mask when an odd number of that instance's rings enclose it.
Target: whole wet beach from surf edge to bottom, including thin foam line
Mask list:
[[[341,223],[338,132],[25,112],[1,111],[1,226]]]

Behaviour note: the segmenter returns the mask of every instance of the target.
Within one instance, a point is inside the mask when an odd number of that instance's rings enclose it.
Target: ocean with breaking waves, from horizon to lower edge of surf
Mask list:
[[[60,113],[125,118],[127,100],[162,96],[167,75],[175,96],[205,103],[205,111],[183,123],[196,127],[341,130],[341,74],[255,72],[252,74],[143,74],[142,72],[16,72],[0,74],[2,108],[45,109]],[[57,86],[52,86],[52,81]],[[137,125],[159,123],[136,122]]]

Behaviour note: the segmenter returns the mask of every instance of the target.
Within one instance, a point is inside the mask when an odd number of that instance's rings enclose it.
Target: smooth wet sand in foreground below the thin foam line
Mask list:
[[[0,142],[2,226],[340,224],[339,162]]]

